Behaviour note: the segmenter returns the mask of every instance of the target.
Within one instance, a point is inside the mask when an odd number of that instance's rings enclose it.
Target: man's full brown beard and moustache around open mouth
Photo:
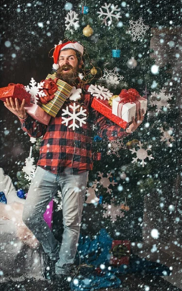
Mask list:
[[[70,69],[69,72],[63,73],[65,69]],[[79,66],[77,65],[76,68],[74,68],[72,65],[62,65],[57,71],[56,71],[56,78],[59,78],[60,80],[65,81],[68,84],[74,84],[75,80],[78,78],[79,74]]]

